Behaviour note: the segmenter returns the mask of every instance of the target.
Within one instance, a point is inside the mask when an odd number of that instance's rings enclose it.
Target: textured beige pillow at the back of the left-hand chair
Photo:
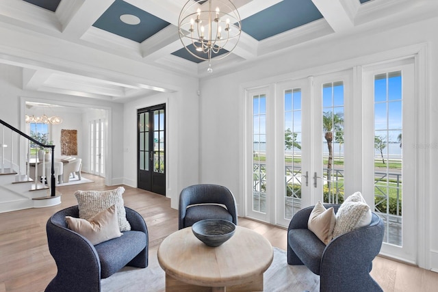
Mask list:
[[[131,225],[126,219],[125,202],[122,196],[124,191],[124,187],[109,191],[76,191],[79,218],[90,220],[97,213],[116,205],[120,231],[131,230]]]

